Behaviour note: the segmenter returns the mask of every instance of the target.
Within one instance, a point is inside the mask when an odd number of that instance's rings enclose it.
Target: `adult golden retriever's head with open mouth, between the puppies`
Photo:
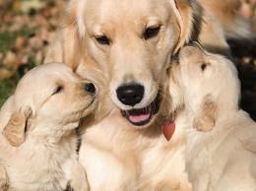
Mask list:
[[[73,0],[65,57],[92,57],[123,116],[148,127],[160,110],[171,55],[196,38],[201,11],[193,0]]]

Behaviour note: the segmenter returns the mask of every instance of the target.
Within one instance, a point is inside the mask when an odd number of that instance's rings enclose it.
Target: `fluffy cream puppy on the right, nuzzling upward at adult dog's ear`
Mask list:
[[[238,107],[240,84],[233,63],[187,46],[173,75],[170,95],[185,104],[175,122],[186,128],[186,168],[193,190],[256,190],[256,123]]]

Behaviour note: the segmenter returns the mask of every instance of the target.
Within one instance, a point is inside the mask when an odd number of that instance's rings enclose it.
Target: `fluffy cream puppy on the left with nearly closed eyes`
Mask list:
[[[0,188],[88,190],[75,129],[96,107],[96,87],[65,64],[32,69],[0,112]]]

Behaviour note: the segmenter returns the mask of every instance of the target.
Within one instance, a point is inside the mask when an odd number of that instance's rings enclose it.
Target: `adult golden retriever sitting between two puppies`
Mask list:
[[[195,0],[72,0],[67,15],[45,62],[64,61],[85,77],[82,68],[99,71],[114,103],[83,135],[91,189],[189,190],[184,132],[169,143],[161,133],[174,131],[166,69],[192,40],[227,54],[223,24]]]

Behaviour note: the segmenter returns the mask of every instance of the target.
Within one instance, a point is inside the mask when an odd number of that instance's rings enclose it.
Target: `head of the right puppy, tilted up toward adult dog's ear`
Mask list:
[[[238,109],[237,71],[223,56],[209,53],[198,44],[186,46],[173,72],[198,130],[211,130],[218,117]]]

